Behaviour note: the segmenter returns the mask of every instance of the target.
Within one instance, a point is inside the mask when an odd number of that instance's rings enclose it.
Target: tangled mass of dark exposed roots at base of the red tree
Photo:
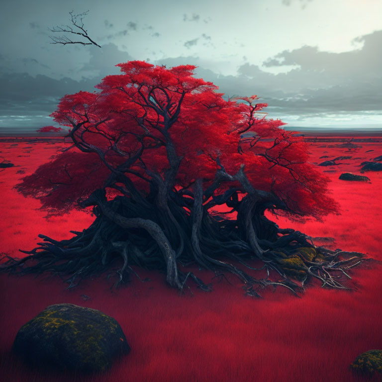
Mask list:
[[[186,269],[194,264],[212,270],[215,275],[212,280],[231,273],[244,284],[246,294],[260,297],[261,290],[269,286],[282,286],[299,295],[313,278],[320,280],[323,287],[349,289],[346,280],[352,278],[352,268],[364,261],[361,253],[316,247],[301,232],[278,229],[272,222],[265,230],[268,233],[262,238],[260,232],[259,238],[258,216],[249,221],[246,214],[243,228],[236,220],[213,216],[203,208],[200,184],[195,185],[191,215],[185,215],[184,209],[175,203],[169,205],[172,219],[177,219],[184,232],[182,238],[178,232],[162,228],[163,216],[161,211],[152,209],[153,205],[148,205],[149,211],[139,206],[142,217],[137,217],[138,207],[126,198],[107,201],[102,193],[93,198],[97,217],[88,229],[72,231],[74,237],[62,241],[39,235],[43,241],[38,247],[21,251],[28,255],[22,259],[7,257],[1,271],[19,275],[51,272],[72,288],[82,279],[97,276],[114,265],[118,265],[114,284],[118,286],[135,274],[131,266],[138,266],[164,272],[168,284],[181,291],[190,289],[189,280],[210,291],[210,284],[179,269],[179,265]],[[264,226],[266,220],[263,216],[261,219]],[[256,235],[250,238],[254,232]],[[253,240],[257,240],[256,248],[251,244]],[[176,253],[173,248],[182,251]],[[251,266],[252,259],[263,265]],[[266,271],[267,276],[259,279],[254,275],[258,271]]]

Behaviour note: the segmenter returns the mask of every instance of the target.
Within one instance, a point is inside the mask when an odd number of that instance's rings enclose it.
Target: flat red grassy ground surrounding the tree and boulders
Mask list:
[[[17,146],[14,146],[17,144]],[[311,162],[352,156],[333,168],[318,167],[332,179],[333,196],[342,207],[322,223],[294,224],[313,237],[336,238],[333,248],[367,253],[382,260],[382,173],[365,173],[371,183],[338,180],[342,172],[359,174],[361,162],[382,154],[382,143],[357,143],[359,148],[333,147],[339,143],[311,143]],[[20,256],[44,233],[69,238],[93,217],[73,212],[44,219],[39,202],[12,190],[22,176],[48,161],[61,143],[1,142],[0,162],[15,167],[0,170],[0,251]],[[325,146],[325,147],[322,147]],[[332,146],[332,147],[331,147]],[[369,150],[374,150],[367,152]],[[329,158],[319,157],[327,155]],[[358,159],[354,159],[358,158]],[[24,173],[21,173],[23,171]],[[101,278],[65,290],[58,278],[0,275],[0,375],[3,381],[74,381],[73,376],[44,375],[24,367],[10,352],[17,330],[47,305],[69,302],[99,309],[121,325],[131,353],[107,374],[76,381],[362,381],[349,364],[370,349],[382,349],[382,267],[355,269],[355,292],[307,289],[296,298],[280,289],[263,299],[244,296],[240,283],[213,280],[205,293],[190,283],[193,296],[179,295],[165,284],[164,275],[141,272],[151,281],[133,279],[118,290]],[[211,275],[201,273],[205,282]],[[84,301],[82,294],[91,299]],[[377,381],[378,377],[373,380]]]

